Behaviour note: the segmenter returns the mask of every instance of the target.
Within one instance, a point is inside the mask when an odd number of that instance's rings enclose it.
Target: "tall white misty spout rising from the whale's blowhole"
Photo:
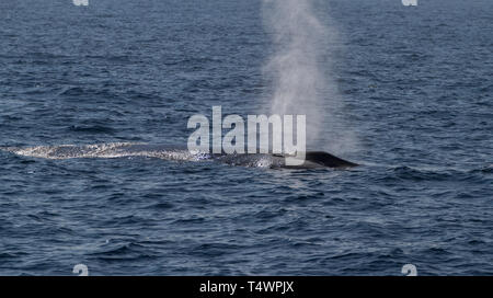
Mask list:
[[[311,0],[263,0],[263,19],[274,46],[264,69],[273,82],[271,114],[307,115],[309,148],[353,149],[353,133],[342,131],[337,118],[341,96],[330,76],[335,28],[319,20]]]

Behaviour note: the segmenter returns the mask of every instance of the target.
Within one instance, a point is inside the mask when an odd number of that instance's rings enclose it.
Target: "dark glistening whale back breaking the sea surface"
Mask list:
[[[200,151],[188,151],[164,145],[147,144],[98,144],[98,145],[61,145],[61,146],[37,146],[37,147],[2,147],[19,156],[45,158],[45,159],[74,159],[74,158],[124,158],[147,157],[175,161],[217,161],[231,165],[271,168],[271,169],[323,169],[323,168],[353,168],[356,163],[340,159],[323,151],[308,151],[300,165],[286,164],[286,156],[271,153],[208,153]]]

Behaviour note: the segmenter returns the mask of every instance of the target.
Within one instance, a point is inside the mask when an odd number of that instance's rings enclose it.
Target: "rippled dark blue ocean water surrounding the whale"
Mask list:
[[[0,151],[0,275],[493,274],[493,2],[313,5],[339,107],[312,149],[360,167]],[[185,146],[213,105],[268,113],[264,18],[260,0],[2,0],[0,146]]]

